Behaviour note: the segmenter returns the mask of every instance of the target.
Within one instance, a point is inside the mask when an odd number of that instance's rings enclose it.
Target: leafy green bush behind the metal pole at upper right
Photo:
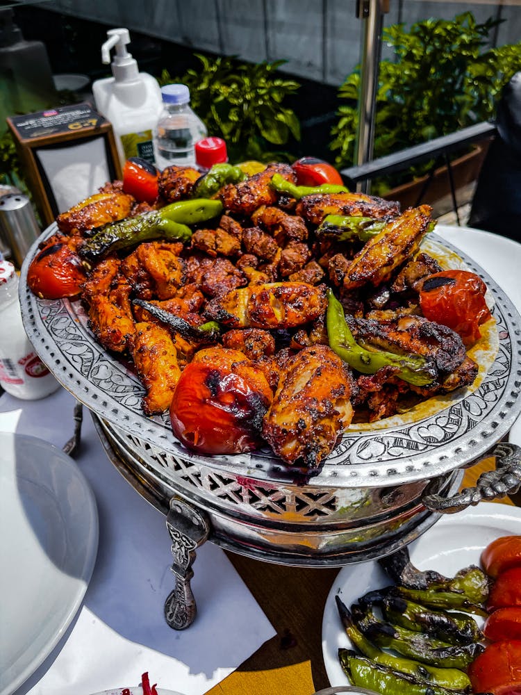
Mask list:
[[[375,158],[493,117],[502,88],[521,65],[521,43],[487,47],[497,24],[493,19],[479,24],[466,12],[453,20],[426,19],[408,31],[404,24],[383,30],[396,58],[380,63]],[[347,101],[331,131],[340,166],[354,159],[360,79],[357,67],[338,92]]]

